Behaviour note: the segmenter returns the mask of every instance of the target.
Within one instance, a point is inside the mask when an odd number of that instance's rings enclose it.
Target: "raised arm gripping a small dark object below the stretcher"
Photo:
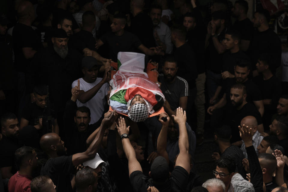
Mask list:
[[[162,120],[162,118],[164,117],[167,118],[166,122]],[[170,117],[168,116],[167,113],[161,113],[158,121],[162,124],[162,128],[157,138],[157,153],[159,156],[164,157],[166,161],[169,163],[169,156],[166,151],[166,148],[167,148],[167,133]]]

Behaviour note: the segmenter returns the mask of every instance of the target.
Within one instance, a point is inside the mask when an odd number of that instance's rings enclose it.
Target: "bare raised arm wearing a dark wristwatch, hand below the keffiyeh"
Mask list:
[[[120,136],[123,134],[127,134],[127,135],[129,134],[129,128],[130,127],[128,127],[128,128],[126,127],[126,123],[125,123],[124,118],[118,119],[118,125],[116,124],[116,128],[117,128],[118,134]],[[123,137],[121,140],[122,140],[124,153],[128,159],[129,177],[130,177],[131,173],[133,173],[134,171],[143,172],[140,163],[136,159],[136,153],[135,153],[133,146],[130,143],[129,138]]]

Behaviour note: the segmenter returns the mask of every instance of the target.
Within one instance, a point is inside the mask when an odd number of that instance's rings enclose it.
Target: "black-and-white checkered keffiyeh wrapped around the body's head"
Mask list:
[[[148,118],[148,115],[148,107],[142,103],[132,105],[128,113],[128,117],[134,122],[143,122]]]

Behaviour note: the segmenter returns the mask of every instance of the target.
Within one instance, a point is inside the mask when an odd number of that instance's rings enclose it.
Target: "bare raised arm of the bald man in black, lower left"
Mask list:
[[[77,153],[72,156],[72,163],[74,166],[82,164],[85,161],[88,161],[90,159],[95,158],[96,153],[99,150],[99,147],[101,145],[101,141],[105,132],[105,129],[107,129],[110,125],[113,124],[113,122],[116,120],[116,112],[113,111],[110,113],[109,116],[104,117],[102,120],[102,123],[99,128],[99,132],[91,145],[88,147],[88,149],[83,153]]]

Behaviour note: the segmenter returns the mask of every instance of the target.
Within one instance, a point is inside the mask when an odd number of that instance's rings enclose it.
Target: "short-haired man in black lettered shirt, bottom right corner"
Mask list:
[[[274,155],[261,153],[258,156],[259,163],[262,169],[263,182],[266,185],[266,191],[271,192],[277,184],[273,182],[273,175],[277,168],[277,160]]]

